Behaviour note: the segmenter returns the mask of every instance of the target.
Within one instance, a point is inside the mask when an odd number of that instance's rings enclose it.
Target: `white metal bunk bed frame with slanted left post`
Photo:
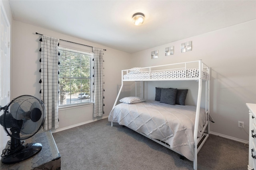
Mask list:
[[[191,68],[189,67],[188,65],[189,64],[196,64],[198,66],[198,69],[199,69],[199,75],[198,77],[195,77],[195,78],[188,78],[186,76],[186,73],[187,73],[187,69],[188,68]],[[182,65],[182,67],[177,67],[177,66],[180,66]],[[193,65],[193,66],[194,66]],[[168,69],[164,69],[164,70],[156,70],[158,68],[161,68],[161,67],[170,67]],[[209,133],[210,133],[210,122],[209,122],[209,114],[210,114],[210,67],[208,67],[206,64],[204,64],[202,62],[202,60],[199,60],[199,61],[191,61],[191,62],[184,62],[184,63],[176,63],[176,64],[166,64],[166,65],[161,65],[161,66],[151,66],[151,67],[144,67],[144,68],[147,68],[149,69],[149,73],[150,72],[153,72],[153,71],[166,71],[166,70],[179,70],[179,69],[185,69],[185,78],[161,78],[161,79],[154,79],[154,78],[149,78],[149,79],[139,79],[139,80],[124,80],[124,73],[128,74],[130,72],[130,69],[128,70],[122,70],[122,85],[120,87],[120,90],[118,92],[118,95],[117,95],[117,98],[116,98],[116,101],[114,103],[114,106],[113,108],[116,106],[116,103],[118,101],[118,98],[120,96],[120,93],[122,91],[122,88],[123,88],[123,85],[124,85],[124,81],[135,81],[135,82],[142,82],[142,81],[188,81],[188,80],[196,80],[198,82],[198,97],[197,97],[197,104],[196,104],[196,119],[195,119],[195,127],[194,127],[194,170],[197,170],[197,154],[199,152],[199,150],[202,148],[202,146],[204,145],[206,139],[209,137]],[[206,72],[207,73],[207,78],[204,78],[203,77],[203,72]],[[207,127],[207,131],[206,133],[202,133],[202,136],[201,137],[197,137],[197,132],[198,132],[198,124],[199,124],[199,112],[200,112],[200,104],[201,104],[201,97],[202,97],[202,81],[205,81],[205,111],[206,111],[206,124],[204,125],[203,127],[203,130],[202,131],[206,131],[206,127]],[[137,84],[136,84],[136,96],[137,94],[140,94],[140,96],[142,97],[143,96],[143,83],[141,83],[141,88],[140,88],[140,93],[137,92]],[[112,109],[113,109],[112,108]],[[113,122],[111,122],[111,126],[113,126]],[[136,131],[138,132],[138,131]],[[196,133],[195,133],[196,132]],[[141,132],[138,132],[142,135],[144,135],[145,137],[148,137],[149,139],[155,141],[156,143],[159,143],[160,145],[163,145],[164,147],[167,147],[168,149],[172,150],[170,148],[170,145],[168,145],[167,143],[165,142],[162,142],[160,140],[157,140],[157,139],[153,139],[152,137],[144,134],[144,133],[141,133]],[[201,141],[201,143],[200,143]],[[198,145],[199,144],[199,145]],[[175,150],[174,150],[175,151]],[[177,152],[177,151],[175,151]],[[177,152],[178,154],[181,154],[179,152]],[[181,154],[182,155],[182,154]]]

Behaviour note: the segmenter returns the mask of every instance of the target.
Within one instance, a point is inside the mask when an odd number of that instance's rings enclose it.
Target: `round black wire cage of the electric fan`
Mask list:
[[[40,109],[42,113],[40,119],[36,122],[26,116],[26,113],[30,113],[34,106]],[[34,96],[23,95],[8,104],[1,124],[4,125],[4,130],[10,137],[24,140],[35,135],[42,128],[45,118],[46,109],[44,103]]]

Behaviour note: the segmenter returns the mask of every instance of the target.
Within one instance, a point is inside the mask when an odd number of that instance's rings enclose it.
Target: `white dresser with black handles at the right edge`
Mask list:
[[[248,170],[256,170],[256,104],[246,103],[249,109],[249,161]]]

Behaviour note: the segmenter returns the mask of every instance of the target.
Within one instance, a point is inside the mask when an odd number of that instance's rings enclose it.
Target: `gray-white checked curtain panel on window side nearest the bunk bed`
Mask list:
[[[102,116],[103,99],[104,99],[104,67],[103,67],[103,49],[93,48],[93,96],[94,96],[94,110],[93,117]]]

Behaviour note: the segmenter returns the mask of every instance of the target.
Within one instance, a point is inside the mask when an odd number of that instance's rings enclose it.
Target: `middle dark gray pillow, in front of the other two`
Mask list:
[[[162,88],[160,103],[175,105],[176,103],[176,88]]]

